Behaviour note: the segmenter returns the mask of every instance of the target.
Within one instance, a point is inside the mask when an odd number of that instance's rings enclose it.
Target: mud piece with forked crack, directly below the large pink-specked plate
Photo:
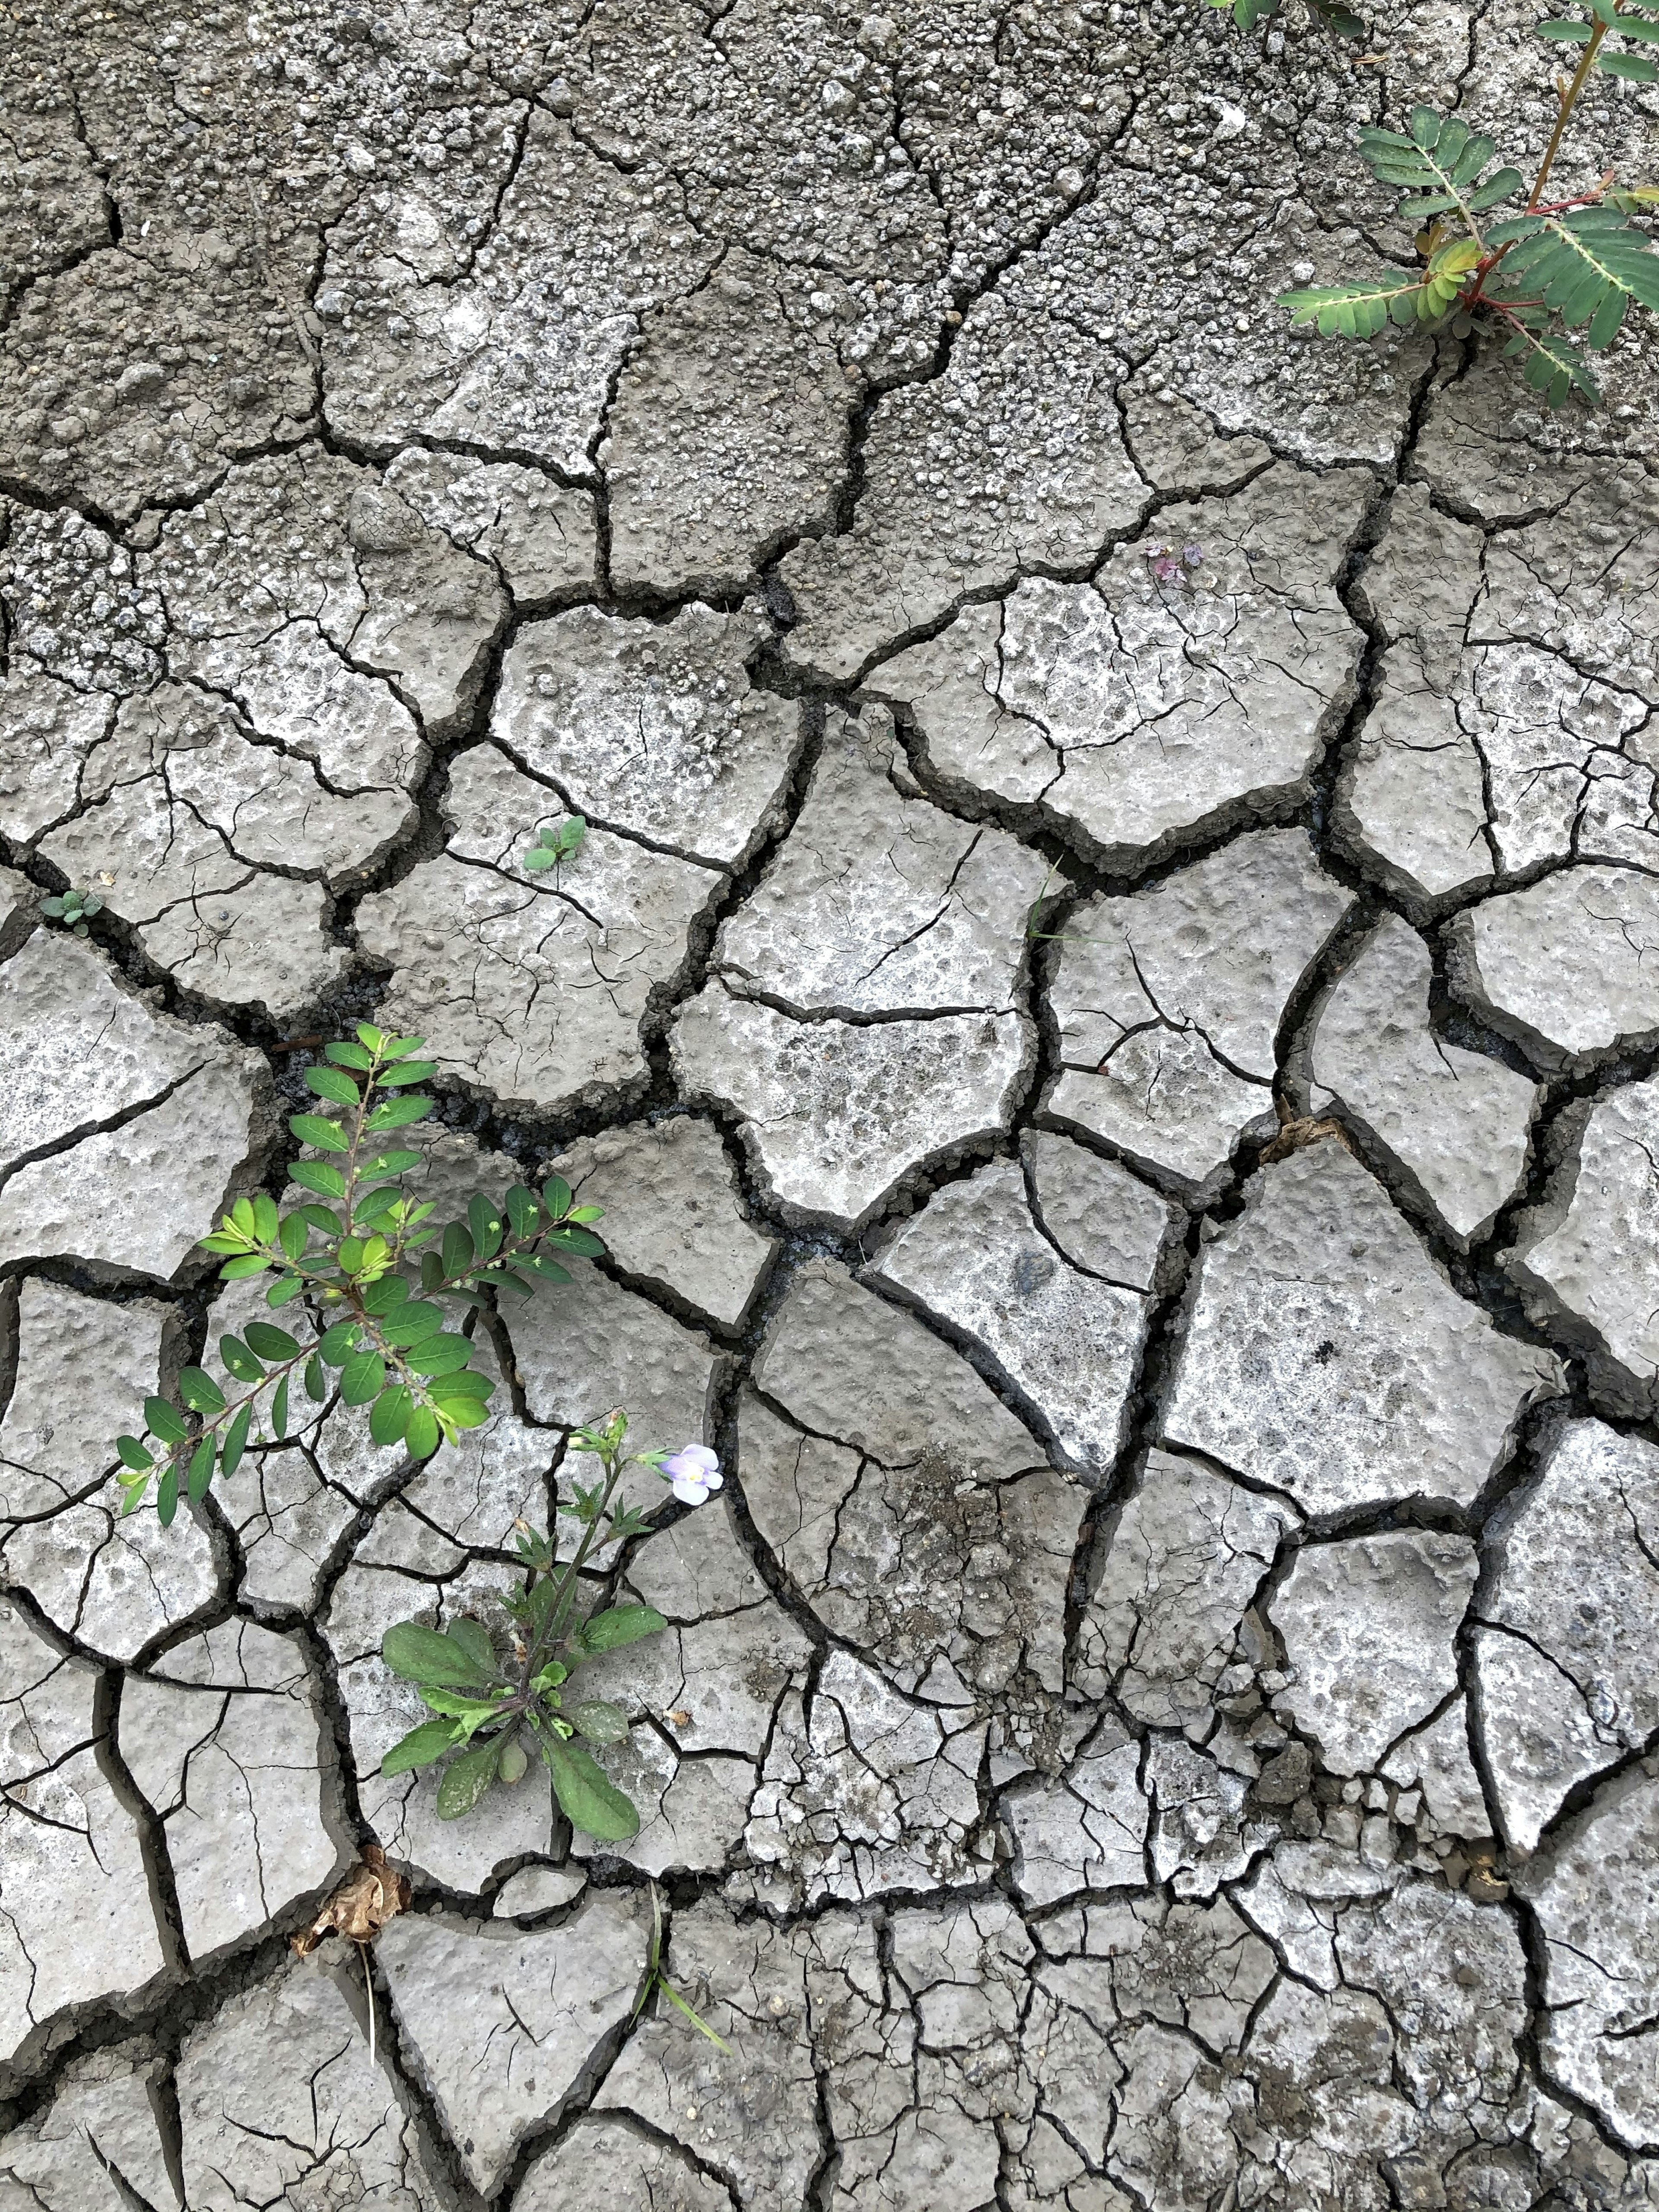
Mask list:
[[[1349,907],[1301,830],[1256,830],[1128,898],[1079,907],[1051,1004],[1044,1113],[1208,1192],[1272,1113],[1290,993]]]

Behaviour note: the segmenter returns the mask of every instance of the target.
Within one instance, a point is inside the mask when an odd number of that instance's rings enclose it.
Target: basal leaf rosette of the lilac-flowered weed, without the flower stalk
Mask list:
[[[604,1750],[628,1734],[628,1714],[595,1697],[571,1697],[571,1677],[586,1659],[655,1637],[668,1624],[650,1606],[608,1606],[560,1637],[557,1657],[538,1648],[540,1610],[557,1604],[562,1584],[542,1579],[515,1604],[529,1626],[535,1663],[511,1661],[476,1619],[449,1628],[403,1621],[387,1628],[380,1657],[431,1708],[434,1719],[411,1728],[380,1761],[380,1774],[407,1774],[447,1761],[438,1781],[438,1818],[458,1820],[495,1787],[518,1783],[535,1752],[553,1776],[553,1792],[571,1827],[599,1843],[639,1834],[639,1812],[617,1790],[588,1745]]]

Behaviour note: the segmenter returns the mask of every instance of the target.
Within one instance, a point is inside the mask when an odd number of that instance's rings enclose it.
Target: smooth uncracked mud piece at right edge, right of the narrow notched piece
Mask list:
[[[1548,1068],[1659,1035],[1659,883],[1566,867],[1451,925],[1451,987]]]

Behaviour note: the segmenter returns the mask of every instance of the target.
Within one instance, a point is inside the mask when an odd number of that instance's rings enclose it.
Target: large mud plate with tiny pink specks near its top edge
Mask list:
[[[1272,816],[1307,794],[1354,690],[1336,575],[1363,507],[1356,478],[1270,469],[1168,509],[1088,584],[1035,577],[964,611],[872,688],[909,706],[949,783],[1042,801],[1108,867]]]

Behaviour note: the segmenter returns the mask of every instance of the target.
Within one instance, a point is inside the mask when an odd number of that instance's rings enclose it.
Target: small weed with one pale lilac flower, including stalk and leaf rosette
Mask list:
[[[624,1843],[639,1834],[637,1807],[584,1750],[584,1743],[604,1750],[626,1741],[628,1714],[597,1697],[573,1697],[571,1679],[588,1659],[655,1637],[668,1621],[650,1606],[606,1606],[584,1615],[580,1577],[595,1546],[622,1544],[650,1528],[644,1513],[615,1504],[628,1467],[655,1469],[681,1504],[703,1504],[721,1486],[721,1469],[703,1444],[630,1453],[626,1438],[628,1416],[622,1411],[571,1436],[575,1451],[599,1460],[599,1480],[586,1489],[577,1484],[573,1502],[560,1506],[582,1528],[564,1564],[549,1537],[518,1524],[524,1584],[502,1595],[513,1624],[509,1650],[471,1615],[460,1615],[449,1628],[403,1621],[385,1632],[380,1657],[416,1686],[436,1719],[394,1743],[380,1774],[449,1761],[438,1781],[440,1820],[473,1812],[495,1783],[520,1783],[535,1752],[553,1776],[571,1827],[597,1843]]]

